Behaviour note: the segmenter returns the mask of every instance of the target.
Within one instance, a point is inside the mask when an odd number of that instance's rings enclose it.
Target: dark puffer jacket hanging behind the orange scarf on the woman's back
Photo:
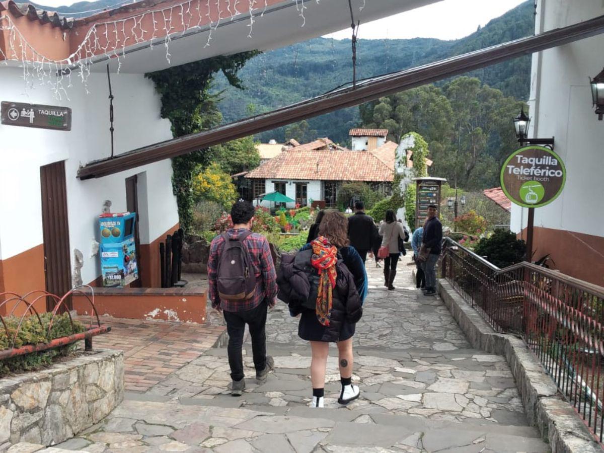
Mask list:
[[[281,267],[277,273],[278,298],[289,306],[289,312],[296,316],[314,304],[316,300],[316,269],[310,264],[312,250],[297,254],[283,254]],[[339,256],[336,263],[336,287],[333,291],[332,313],[321,341],[337,341],[342,323],[356,323],[361,319],[363,309],[361,298],[356,291],[355,279]]]

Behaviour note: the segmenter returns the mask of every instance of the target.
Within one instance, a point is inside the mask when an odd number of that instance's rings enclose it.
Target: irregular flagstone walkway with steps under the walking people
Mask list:
[[[406,261],[406,260],[405,260]],[[106,420],[59,445],[90,452],[547,452],[527,426],[508,365],[472,349],[438,297],[396,291],[368,261],[370,295],[355,335],[353,382],[361,398],[337,402],[337,358],[326,408],[309,408],[310,348],[279,303],[267,326],[275,371],[255,383],[245,345],[246,391],[232,397],[225,348],[207,350],[144,393],[127,393]],[[335,347],[330,352],[336,354]],[[132,376],[132,374],[129,374]]]

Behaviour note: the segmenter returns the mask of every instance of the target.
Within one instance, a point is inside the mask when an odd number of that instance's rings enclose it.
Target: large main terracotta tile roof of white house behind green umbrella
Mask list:
[[[392,181],[394,171],[370,152],[289,150],[252,170],[245,177],[382,182]]]

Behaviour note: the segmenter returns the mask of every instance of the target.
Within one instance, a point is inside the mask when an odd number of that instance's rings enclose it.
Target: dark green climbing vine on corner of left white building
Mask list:
[[[199,62],[149,72],[145,77],[153,80],[161,96],[161,117],[172,123],[173,137],[182,137],[220,124],[222,115],[217,107],[220,94],[209,92],[214,75],[222,71],[226,80],[243,89],[237,73],[245,62],[259,54],[242,52],[230,56],[217,56]],[[172,159],[172,188],[178,202],[178,217],[185,231],[193,220],[193,178],[199,168],[210,163],[207,148]]]

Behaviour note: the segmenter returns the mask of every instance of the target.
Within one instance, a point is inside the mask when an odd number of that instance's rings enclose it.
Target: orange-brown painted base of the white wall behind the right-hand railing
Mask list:
[[[520,237],[526,240],[526,228]],[[533,261],[550,254],[550,268],[604,286],[604,237],[535,226]]]

